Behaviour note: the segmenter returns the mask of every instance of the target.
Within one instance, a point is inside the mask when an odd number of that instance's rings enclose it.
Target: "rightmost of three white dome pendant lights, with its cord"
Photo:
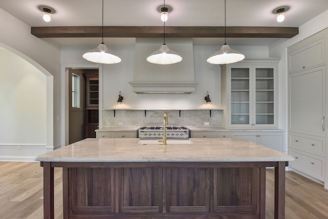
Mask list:
[[[226,42],[226,0],[224,0],[224,44],[221,49],[213,53],[207,62],[210,64],[224,65],[242,61],[245,56],[237,50],[231,49]]]

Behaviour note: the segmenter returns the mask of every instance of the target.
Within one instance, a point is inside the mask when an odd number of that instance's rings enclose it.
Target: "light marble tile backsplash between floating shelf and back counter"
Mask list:
[[[103,127],[163,126],[165,111],[168,126],[221,127],[222,110],[104,110]]]

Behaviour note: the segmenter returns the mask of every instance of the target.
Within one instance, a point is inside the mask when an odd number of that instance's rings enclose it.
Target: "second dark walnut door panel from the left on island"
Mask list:
[[[163,169],[119,168],[119,212],[162,212]]]

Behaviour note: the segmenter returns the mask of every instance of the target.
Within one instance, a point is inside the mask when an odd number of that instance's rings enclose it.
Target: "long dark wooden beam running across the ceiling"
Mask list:
[[[226,27],[226,36],[235,38],[292,38],[297,27]],[[32,27],[31,34],[38,38],[101,37],[101,27]],[[104,37],[163,37],[160,26],[104,27]],[[224,37],[224,27],[165,27],[165,37],[196,38]]]

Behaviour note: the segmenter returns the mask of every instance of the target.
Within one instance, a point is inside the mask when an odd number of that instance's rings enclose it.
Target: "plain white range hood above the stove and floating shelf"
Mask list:
[[[192,39],[166,41],[170,49],[182,56],[182,61],[172,65],[157,65],[146,58],[163,44],[162,39],[137,38],[134,55],[134,78],[129,84],[133,92],[144,94],[181,94],[196,90],[194,52]]]

